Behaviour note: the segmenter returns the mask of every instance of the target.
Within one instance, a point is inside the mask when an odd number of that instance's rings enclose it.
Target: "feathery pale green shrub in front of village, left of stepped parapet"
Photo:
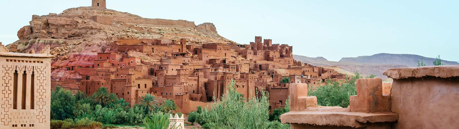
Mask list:
[[[269,121],[268,93],[254,97],[248,102],[241,101],[241,94],[235,91],[235,82],[227,86],[226,93],[209,110],[198,108],[190,112],[189,119],[204,129],[290,129],[289,124]]]

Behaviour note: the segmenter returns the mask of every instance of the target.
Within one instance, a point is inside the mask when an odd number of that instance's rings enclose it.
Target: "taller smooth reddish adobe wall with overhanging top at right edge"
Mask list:
[[[459,129],[459,65],[397,68],[392,83],[393,129]]]

